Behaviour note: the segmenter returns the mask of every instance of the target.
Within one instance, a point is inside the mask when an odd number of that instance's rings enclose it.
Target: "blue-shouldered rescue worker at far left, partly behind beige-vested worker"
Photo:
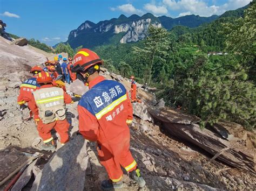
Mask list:
[[[31,110],[32,92],[40,89],[40,86],[36,81],[36,76],[42,71],[43,69],[40,66],[33,66],[30,70],[30,73],[33,74],[33,77],[25,80],[21,86],[19,86],[21,89],[19,90],[18,104],[21,109],[29,107]],[[26,106],[25,103],[28,103],[28,106]],[[30,112],[30,117],[32,117],[32,112]]]

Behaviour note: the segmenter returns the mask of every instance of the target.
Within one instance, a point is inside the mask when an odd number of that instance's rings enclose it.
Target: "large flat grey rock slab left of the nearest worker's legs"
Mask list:
[[[74,135],[53,154],[36,176],[31,190],[83,190],[89,158],[86,143],[82,135]]]

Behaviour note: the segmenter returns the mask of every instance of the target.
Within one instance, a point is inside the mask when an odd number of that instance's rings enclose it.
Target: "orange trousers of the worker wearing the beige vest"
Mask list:
[[[69,141],[69,122],[66,119],[62,121],[57,120],[49,124],[44,124],[42,120],[38,122],[38,134],[43,139],[44,143],[49,143],[53,140],[51,135],[52,129],[55,129],[57,133],[59,133],[60,143],[64,144]]]

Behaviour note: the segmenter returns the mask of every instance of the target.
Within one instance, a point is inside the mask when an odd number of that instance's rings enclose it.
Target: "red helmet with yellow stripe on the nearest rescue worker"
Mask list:
[[[94,65],[102,65],[103,60],[99,58],[99,56],[90,51],[90,49],[82,48],[76,53],[73,58],[73,72],[84,72],[88,68]]]

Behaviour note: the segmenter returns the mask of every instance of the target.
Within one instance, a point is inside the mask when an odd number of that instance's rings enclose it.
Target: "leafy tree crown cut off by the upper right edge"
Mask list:
[[[241,58],[250,79],[256,83],[256,1],[245,10],[244,17],[223,26],[226,49]]]

